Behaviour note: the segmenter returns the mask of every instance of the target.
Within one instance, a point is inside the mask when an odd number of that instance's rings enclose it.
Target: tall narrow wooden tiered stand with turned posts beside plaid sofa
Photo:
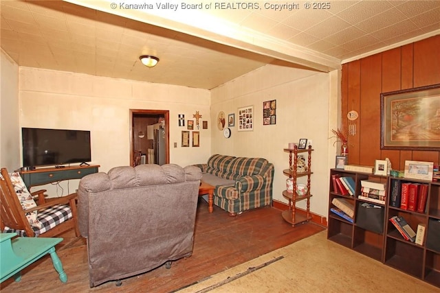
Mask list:
[[[311,148],[311,145],[309,145],[309,148],[305,150],[299,150],[298,146],[295,145],[294,149],[288,149],[285,148],[284,152],[289,153],[289,169],[284,169],[283,174],[285,176],[292,178],[293,185],[294,185],[294,191],[293,192],[287,192],[287,189],[283,191],[283,197],[289,200],[289,209],[283,211],[281,215],[283,216],[283,219],[292,224],[292,226],[296,226],[297,224],[301,224],[304,222],[308,222],[311,220],[311,214],[310,214],[310,178],[311,174],[311,152],[313,152],[313,149]],[[307,154],[306,163],[307,163],[307,172],[298,172],[298,154]],[[290,168],[292,166],[292,169]],[[304,196],[299,196],[296,194],[296,183],[298,178],[300,177],[307,177],[307,194]],[[300,202],[302,200],[306,200],[306,214],[299,214],[296,212],[296,202]]]

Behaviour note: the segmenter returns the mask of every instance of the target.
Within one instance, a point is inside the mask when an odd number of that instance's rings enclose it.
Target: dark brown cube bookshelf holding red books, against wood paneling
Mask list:
[[[351,176],[353,178],[355,181],[354,196],[342,196],[338,191],[333,190],[331,175],[335,174]],[[360,181],[365,179],[386,183],[386,202],[385,204],[377,204],[384,208],[383,233],[369,231],[357,224],[358,204],[365,202],[358,198],[361,193]],[[428,185],[428,197],[424,213],[391,206],[391,183],[393,180],[397,180],[399,184],[407,182]],[[440,182],[394,176],[376,176],[361,172],[345,171],[344,169],[331,169],[329,191],[327,239],[440,288],[440,245],[435,247],[427,247],[426,245],[430,229],[440,233]],[[345,198],[353,202],[355,207],[353,223],[340,218],[330,211],[330,208],[334,207],[331,203],[333,198]],[[405,240],[400,235],[395,226],[388,220],[394,215],[404,217],[406,222],[416,232],[418,224],[426,225],[423,245]]]

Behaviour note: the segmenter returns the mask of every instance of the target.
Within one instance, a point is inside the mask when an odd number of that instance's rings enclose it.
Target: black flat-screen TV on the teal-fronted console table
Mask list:
[[[23,167],[91,161],[90,131],[21,128]]]

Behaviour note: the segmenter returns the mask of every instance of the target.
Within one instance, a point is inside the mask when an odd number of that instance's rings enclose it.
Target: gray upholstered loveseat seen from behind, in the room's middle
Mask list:
[[[200,178],[198,167],[174,164],[115,167],[82,178],[78,225],[87,238],[90,287],[189,257]]]

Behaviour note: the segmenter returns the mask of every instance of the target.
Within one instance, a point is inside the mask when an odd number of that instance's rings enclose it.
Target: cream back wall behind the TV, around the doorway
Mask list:
[[[210,126],[207,90],[20,67],[19,107],[20,127],[90,130],[92,163],[102,172],[130,163],[129,109],[170,111],[170,163],[186,166],[210,156],[211,127],[199,130],[199,148],[181,148],[186,127],[178,126],[179,114],[194,119],[196,110]],[[78,181],[44,188],[61,196],[74,192]]]

